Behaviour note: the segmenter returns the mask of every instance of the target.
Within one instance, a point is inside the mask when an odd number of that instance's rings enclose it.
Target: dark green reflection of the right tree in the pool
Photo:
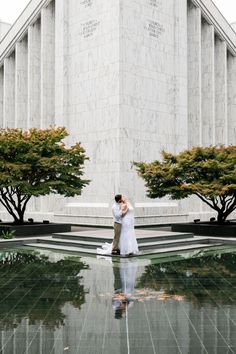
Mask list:
[[[194,306],[236,304],[236,254],[152,264],[139,279],[138,288],[162,292],[163,300],[186,299]]]

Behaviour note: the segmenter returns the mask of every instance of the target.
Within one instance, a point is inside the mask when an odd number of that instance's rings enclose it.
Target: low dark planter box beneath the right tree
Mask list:
[[[236,237],[236,222],[231,222],[225,225],[216,223],[183,223],[172,224],[172,231],[177,232],[192,232],[195,235],[202,236],[221,236],[221,237]]]

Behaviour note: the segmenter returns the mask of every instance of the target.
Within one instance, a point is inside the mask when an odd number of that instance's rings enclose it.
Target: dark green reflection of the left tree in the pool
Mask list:
[[[46,256],[17,251],[0,254],[0,329],[29,324],[59,327],[64,324],[63,305],[85,301],[79,273],[86,266],[73,260],[52,263]]]

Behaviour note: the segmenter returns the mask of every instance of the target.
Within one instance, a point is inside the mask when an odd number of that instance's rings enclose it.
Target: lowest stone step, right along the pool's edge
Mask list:
[[[221,243],[215,243],[215,244],[202,244],[202,243],[196,243],[196,244],[191,244],[191,245],[185,245],[181,247],[168,247],[168,248],[158,248],[158,249],[149,249],[149,250],[143,250],[138,253],[136,256],[129,256],[129,257],[139,257],[139,256],[147,256],[147,255],[154,255],[154,254],[163,254],[163,253],[168,253],[168,252],[184,252],[184,251],[189,251],[189,250],[198,250],[198,249],[203,249],[203,248],[212,248],[212,247],[218,247],[220,246]],[[51,250],[56,250],[56,251],[63,251],[63,252],[75,252],[75,253],[82,253],[82,254],[90,254],[90,255],[97,255],[95,249],[88,249],[88,248],[80,248],[80,247],[72,247],[72,246],[62,246],[62,245],[57,245],[57,244],[48,244],[48,243],[25,243],[24,246],[30,247],[30,248],[40,248],[40,249],[51,249]],[[119,257],[119,256],[113,256],[113,255],[106,255],[106,256],[111,256],[111,257]],[[122,256],[121,256],[122,257]]]

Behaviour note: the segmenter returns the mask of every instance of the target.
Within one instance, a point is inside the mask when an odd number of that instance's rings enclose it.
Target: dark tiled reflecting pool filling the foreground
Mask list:
[[[0,353],[236,353],[236,248],[0,250]]]

